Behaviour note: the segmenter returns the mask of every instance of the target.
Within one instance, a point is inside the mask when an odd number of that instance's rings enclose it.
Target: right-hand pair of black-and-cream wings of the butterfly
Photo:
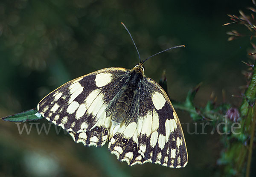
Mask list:
[[[145,162],[172,168],[188,161],[186,142],[177,114],[162,87],[151,78],[143,78],[134,98],[138,114],[127,117],[111,138],[109,149],[128,165]],[[133,109],[131,107],[131,109]]]

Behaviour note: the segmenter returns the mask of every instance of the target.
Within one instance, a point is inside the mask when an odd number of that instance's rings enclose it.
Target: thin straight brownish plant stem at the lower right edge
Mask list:
[[[252,108],[252,111],[253,111],[253,108]],[[249,146],[249,153],[248,153],[248,160],[247,160],[246,177],[250,177],[250,164],[251,164],[252,153],[253,153],[253,139],[254,139],[255,120],[256,120],[256,105],[254,104],[253,125],[252,125],[251,136],[250,136],[250,146]]]

